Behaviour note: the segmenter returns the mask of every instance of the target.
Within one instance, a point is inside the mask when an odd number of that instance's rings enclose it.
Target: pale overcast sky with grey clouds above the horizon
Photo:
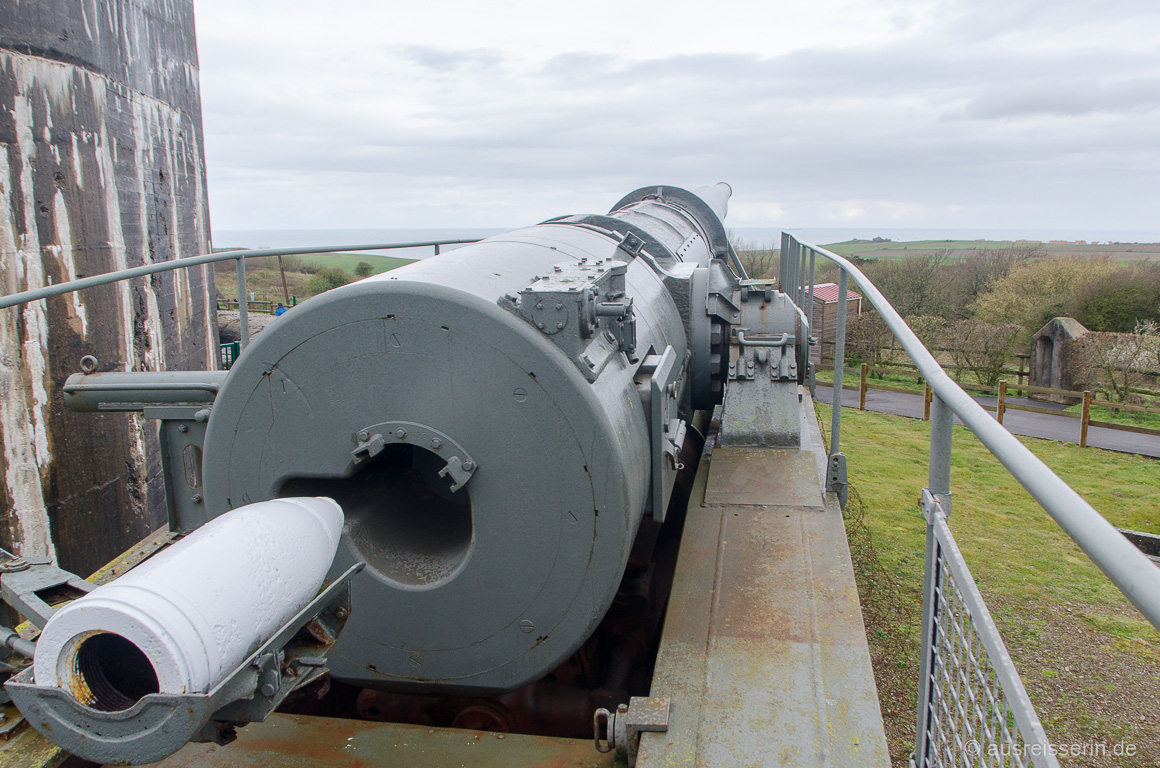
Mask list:
[[[195,0],[223,229],[1160,229],[1158,0]]]

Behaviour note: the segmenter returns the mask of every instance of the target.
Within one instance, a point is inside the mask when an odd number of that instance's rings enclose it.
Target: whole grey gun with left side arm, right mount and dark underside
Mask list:
[[[799,441],[809,325],[744,278],[728,196],[641,188],[328,291],[229,372],[77,374],[65,401],[160,421],[172,530],[339,502],[329,575],[365,568],[327,667],[362,717],[579,736],[646,684],[662,523],[726,383],[774,407],[719,442]]]

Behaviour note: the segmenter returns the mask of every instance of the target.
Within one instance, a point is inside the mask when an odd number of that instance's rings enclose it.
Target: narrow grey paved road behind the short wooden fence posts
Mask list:
[[[818,385],[818,401],[833,403],[833,389],[822,384]],[[976,397],[976,403],[984,407],[994,408],[995,398]],[[1016,405],[1031,405],[1037,408],[1052,408],[1063,411],[1064,406],[1054,403],[1043,403],[1041,400],[1029,400],[1028,398],[1008,397],[1008,403]],[[853,404],[857,407],[858,393],[846,390],[842,394],[844,405]],[[894,413],[914,419],[922,418],[922,394],[902,394],[901,392],[882,392],[878,390],[867,391],[867,411],[878,413]],[[955,423],[963,423],[955,419]],[[1027,413],[1025,411],[1010,411],[1003,415],[1003,426],[1015,435],[1027,435],[1029,437],[1044,437],[1046,440],[1059,440],[1063,442],[1076,443],[1080,440],[1080,420],[1067,416],[1052,416],[1046,413]],[[1160,458],[1160,436],[1139,435],[1132,432],[1121,432],[1108,429],[1107,427],[1088,427],[1088,445],[1093,448],[1107,448],[1126,454],[1140,454],[1141,456],[1153,456]]]

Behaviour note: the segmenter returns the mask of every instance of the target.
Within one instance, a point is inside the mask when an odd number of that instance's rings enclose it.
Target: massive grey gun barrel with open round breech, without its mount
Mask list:
[[[595,631],[726,375],[728,191],[646,187],[336,288],[239,356],[194,512],[342,505],[334,568],[367,568],[335,679],[506,691]]]

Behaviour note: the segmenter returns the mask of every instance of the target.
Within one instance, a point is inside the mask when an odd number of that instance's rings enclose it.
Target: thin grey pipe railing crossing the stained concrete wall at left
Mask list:
[[[333,245],[333,246],[309,246],[302,248],[253,248],[253,249],[240,249],[240,251],[222,251],[218,253],[204,253],[197,256],[187,256],[184,259],[172,259],[169,261],[159,261],[152,265],[144,265],[142,267],[130,267],[128,269],[119,269],[117,271],[104,273],[101,275],[93,275],[92,277],[81,277],[79,280],[71,280],[66,283],[57,283],[55,285],[44,285],[43,288],[34,288],[27,291],[20,291],[19,294],[9,294],[7,296],[0,296],[0,310],[7,309],[9,306],[16,306],[19,304],[27,304],[29,302],[37,302],[44,298],[50,298],[52,296],[63,296],[64,294],[72,294],[73,291],[84,290],[86,288],[95,288],[97,285],[108,285],[110,283],[119,283],[123,280],[132,280],[133,277],[144,277],[146,275],[155,275],[164,271],[173,271],[175,269],[184,269],[188,267],[200,267],[202,265],[217,263],[219,261],[237,261],[238,262],[238,324],[240,326],[241,335],[241,347],[245,348],[249,343],[249,294],[246,290],[246,259],[256,259],[260,256],[303,256],[314,253],[357,253],[360,251],[397,251],[399,248],[435,248],[435,255],[438,255],[440,247],[445,245],[469,245],[471,242],[479,242],[478,239],[474,240],[419,240],[416,242],[375,242],[370,245]]]

